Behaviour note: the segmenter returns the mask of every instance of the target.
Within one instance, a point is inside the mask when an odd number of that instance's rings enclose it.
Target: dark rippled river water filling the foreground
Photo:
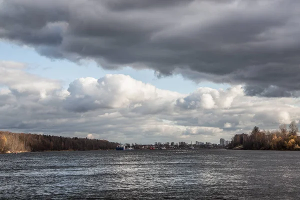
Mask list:
[[[0,154],[0,199],[300,199],[300,152]]]

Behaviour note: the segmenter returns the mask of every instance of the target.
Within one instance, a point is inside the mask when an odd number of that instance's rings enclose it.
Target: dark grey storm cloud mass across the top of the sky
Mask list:
[[[104,68],[130,65],[248,95],[300,88],[298,0],[3,0],[0,38]]]

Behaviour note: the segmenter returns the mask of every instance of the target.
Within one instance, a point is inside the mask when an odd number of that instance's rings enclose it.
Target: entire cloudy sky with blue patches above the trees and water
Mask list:
[[[0,130],[218,143],[298,123],[299,6],[0,0]]]

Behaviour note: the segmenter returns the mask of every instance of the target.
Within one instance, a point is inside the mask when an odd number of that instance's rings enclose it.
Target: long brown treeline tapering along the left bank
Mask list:
[[[0,131],[0,153],[45,150],[114,149],[117,143],[104,139],[62,137],[52,135]]]

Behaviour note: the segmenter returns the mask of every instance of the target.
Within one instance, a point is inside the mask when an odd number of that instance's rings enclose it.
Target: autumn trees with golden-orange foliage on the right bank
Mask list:
[[[259,130],[254,126],[249,134],[235,134],[229,149],[248,149],[248,150],[300,150],[300,137],[297,136],[298,127],[292,121],[288,128],[286,124],[281,124],[279,130],[268,131]]]

